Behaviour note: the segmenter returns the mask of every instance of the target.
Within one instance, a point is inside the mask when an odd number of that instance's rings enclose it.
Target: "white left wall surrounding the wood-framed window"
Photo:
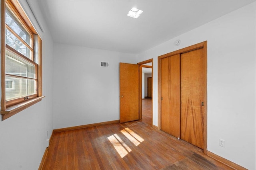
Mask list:
[[[21,1],[21,4],[42,38],[43,95],[46,97],[41,102],[0,122],[1,170],[38,169],[46,149],[46,139],[52,133],[52,38],[37,2],[32,1],[31,7],[44,26],[44,33],[38,27],[26,1]],[[48,137],[46,137],[46,131],[48,131]]]

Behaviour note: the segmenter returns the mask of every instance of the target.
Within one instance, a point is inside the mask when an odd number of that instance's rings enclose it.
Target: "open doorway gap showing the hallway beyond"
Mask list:
[[[142,65],[142,121],[152,126],[152,63]]]

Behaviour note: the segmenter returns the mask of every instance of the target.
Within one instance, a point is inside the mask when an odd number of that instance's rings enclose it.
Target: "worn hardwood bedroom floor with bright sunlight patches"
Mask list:
[[[228,170],[143,121],[55,133],[43,170]]]

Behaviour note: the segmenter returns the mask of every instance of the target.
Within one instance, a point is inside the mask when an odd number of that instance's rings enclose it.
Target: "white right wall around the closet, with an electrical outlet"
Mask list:
[[[138,55],[154,59],[153,124],[158,125],[157,57],[208,41],[208,150],[255,169],[255,2]],[[174,46],[176,39],[181,40]],[[219,146],[219,139],[225,147]]]

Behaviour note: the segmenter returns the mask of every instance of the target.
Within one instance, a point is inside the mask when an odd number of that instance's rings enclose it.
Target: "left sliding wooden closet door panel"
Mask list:
[[[161,130],[180,137],[180,55],[161,60]]]

